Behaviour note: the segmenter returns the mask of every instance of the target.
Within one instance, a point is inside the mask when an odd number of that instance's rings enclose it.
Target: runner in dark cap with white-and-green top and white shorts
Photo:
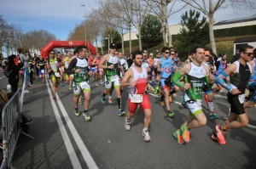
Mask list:
[[[101,94],[101,101],[102,104],[106,104],[105,96],[109,94],[111,87],[114,87],[119,106],[118,115],[125,115],[125,111],[122,110],[121,106],[120,78],[117,73],[119,59],[114,55],[116,45],[111,43],[109,48],[109,54],[103,56],[100,63],[100,68],[105,69],[105,90]]]

